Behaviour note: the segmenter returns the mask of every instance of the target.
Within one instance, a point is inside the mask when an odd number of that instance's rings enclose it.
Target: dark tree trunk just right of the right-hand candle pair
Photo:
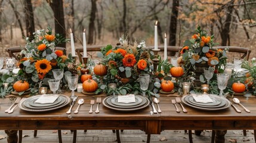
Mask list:
[[[178,0],[172,1],[172,14],[171,20],[169,24],[169,45],[176,45],[176,32],[177,32],[177,19],[178,19],[178,7],[180,7],[180,3]]]

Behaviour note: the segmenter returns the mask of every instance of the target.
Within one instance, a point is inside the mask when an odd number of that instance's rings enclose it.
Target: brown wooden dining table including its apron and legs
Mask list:
[[[69,96],[70,92],[66,92],[64,95]],[[77,102],[71,114],[66,114],[70,105],[44,112],[24,111],[16,107],[13,113],[8,114],[4,111],[13,104],[13,101],[10,101],[10,97],[1,99],[0,129],[7,133],[7,142],[17,142],[17,130],[132,129],[144,130],[148,135],[160,134],[162,130],[218,130],[215,142],[224,142],[225,130],[256,129],[256,98],[254,96],[248,99],[237,97],[246,108],[251,110],[251,113],[246,113],[237,104],[236,107],[242,110],[242,113],[237,113],[233,107],[217,111],[203,111],[185,104],[183,106],[187,109],[187,113],[182,112],[179,104],[177,107],[181,112],[177,113],[174,104],[171,103],[172,99],[180,97],[175,93],[161,94],[159,106],[162,113],[158,114],[150,113],[151,105],[136,111],[116,111],[104,107],[103,104],[100,104],[100,113],[98,114],[95,113],[97,104],[94,104],[94,112],[90,114],[90,100],[96,100],[96,97],[104,98],[106,95],[84,95],[82,93],[76,93],[76,95],[85,100],[78,114],[74,113],[78,107]]]

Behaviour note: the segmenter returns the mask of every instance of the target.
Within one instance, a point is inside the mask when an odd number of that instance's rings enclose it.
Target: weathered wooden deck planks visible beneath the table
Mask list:
[[[63,143],[73,141],[73,133],[70,130],[61,130]],[[147,135],[141,130],[124,130],[120,133],[121,142],[146,142]],[[4,137],[1,139],[1,137]],[[161,139],[166,141],[160,141]],[[7,142],[4,130],[0,130],[0,142]],[[58,142],[57,130],[38,130],[38,136],[33,136],[33,130],[23,130],[24,143],[53,143]],[[112,130],[78,130],[76,142],[116,142],[116,135]],[[152,135],[150,142],[189,142],[189,136],[184,130],[164,130],[161,135]],[[211,130],[204,130],[201,136],[193,134],[193,142],[211,142]],[[226,142],[254,141],[253,130],[247,130],[247,136],[243,136],[242,130],[228,130]]]

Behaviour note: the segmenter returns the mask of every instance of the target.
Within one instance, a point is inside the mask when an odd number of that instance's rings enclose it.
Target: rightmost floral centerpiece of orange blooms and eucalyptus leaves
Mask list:
[[[184,68],[184,80],[190,80],[190,77],[199,80],[199,76],[203,73],[205,67],[214,67],[215,73],[223,73],[228,48],[224,50],[217,49],[214,48],[215,45],[218,45],[218,43],[214,42],[214,35],[209,36],[206,30],[198,26],[192,39],[184,42],[180,52],[181,57],[178,59],[178,65]],[[201,78],[201,82],[203,81]]]

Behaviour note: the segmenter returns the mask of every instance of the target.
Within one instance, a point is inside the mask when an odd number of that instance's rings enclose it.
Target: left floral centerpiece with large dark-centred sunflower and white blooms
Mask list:
[[[33,33],[34,39],[26,38],[26,46],[18,56],[18,76],[16,80],[26,80],[30,88],[38,85],[40,80],[47,84],[49,78],[53,78],[53,69],[69,70],[72,58],[64,55],[62,50],[55,47],[59,43],[67,42],[67,39],[55,33],[52,34],[51,27],[48,32],[44,29]]]

